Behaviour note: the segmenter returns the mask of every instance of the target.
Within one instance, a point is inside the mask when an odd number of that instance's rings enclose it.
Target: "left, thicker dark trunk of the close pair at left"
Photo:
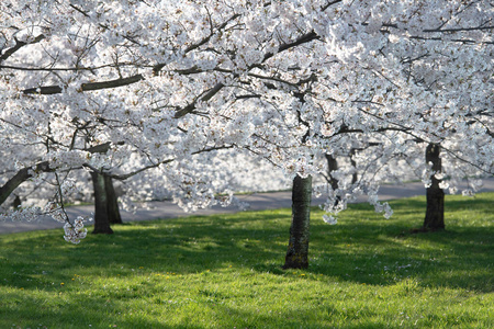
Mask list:
[[[92,185],[94,188],[94,230],[92,234],[113,234],[108,216],[108,197],[104,175],[91,172]]]

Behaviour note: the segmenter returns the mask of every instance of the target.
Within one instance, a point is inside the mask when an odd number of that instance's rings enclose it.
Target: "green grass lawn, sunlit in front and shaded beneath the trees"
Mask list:
[[[447,197],[447,230],[409,234],[351,205],[313,213],[311,265],[283,271],[290,211],[0,236],[0,328],[493,328],[494,193]]]

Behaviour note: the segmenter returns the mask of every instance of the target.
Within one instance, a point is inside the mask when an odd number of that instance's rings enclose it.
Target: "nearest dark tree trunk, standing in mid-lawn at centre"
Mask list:
[[[292,188],[292,225],[283,269],[308,266],[308,231],[311,215],[312,177],[296,175]]]

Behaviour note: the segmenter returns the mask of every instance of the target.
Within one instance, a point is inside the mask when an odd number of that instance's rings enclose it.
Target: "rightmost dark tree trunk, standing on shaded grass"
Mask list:
[[[433,162],[435,172],[441,171],[440,150],[440,145],[433,143],[426,149],[426,162]],[[431,180],[433,183],[427,188],[427,209],[423,226],[425,231],[445,229],[445,192],[439,188],[440,180],[434,175]]]

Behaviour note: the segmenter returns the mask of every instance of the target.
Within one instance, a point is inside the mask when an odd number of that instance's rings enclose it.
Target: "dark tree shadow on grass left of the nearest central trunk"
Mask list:
[[[288,226],[280,231],[272,223],[262,227],[262,222],[279,218],[278,213],[252,213],[240,219],[215,216],[139,222],[115,226],[114,235],[89,235],[77,246],[65,242],[61,230],[26,232],[19,239],[12,235],[8,242],[0,240],[0,263],[7,276],[0,277],[5,279],[0,285],[22,282],[24,287],[34,286],[26,279],[43,277],[43,273],[63,280],[67,273],[82,275],[108,269],[120,275],[133,275],[132,269],[141,266],[186,274],[223,268],[225,263],[248,265],[251,259],[276,254],[269,240],[284,240]],[[281,218],[280,223],[284,222]],[[9,271],[9,266],[15,270]]]

